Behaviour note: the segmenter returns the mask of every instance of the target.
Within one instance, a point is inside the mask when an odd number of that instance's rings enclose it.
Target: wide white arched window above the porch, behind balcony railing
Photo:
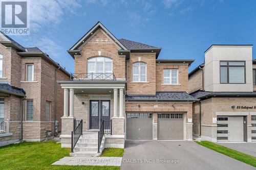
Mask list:
[[[113,61],[108,57],[93,57],[88,59],[88,74],[93,79],[111,79],[113,77]]]

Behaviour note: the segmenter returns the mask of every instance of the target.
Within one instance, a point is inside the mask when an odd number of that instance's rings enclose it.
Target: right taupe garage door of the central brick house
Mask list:
[[[184,117],[183,113],[159,113],[158,114],[158,139],[184,139]]]

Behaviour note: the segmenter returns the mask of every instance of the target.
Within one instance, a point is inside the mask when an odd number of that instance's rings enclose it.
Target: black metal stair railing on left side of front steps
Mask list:
[[[81,135],[82,135],[82,119],[81,120],[74,119],[74,127],[73,127],[73,131],[71,132],[71,152],[74,151],[75,145]]]

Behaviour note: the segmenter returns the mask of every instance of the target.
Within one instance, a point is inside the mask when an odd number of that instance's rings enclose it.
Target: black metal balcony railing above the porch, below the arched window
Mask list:
[[[98,73],[80,73],[70,74],[70,80],[81,81],[81,80],[113,80],[116,81],[114,74],[98,74]]]

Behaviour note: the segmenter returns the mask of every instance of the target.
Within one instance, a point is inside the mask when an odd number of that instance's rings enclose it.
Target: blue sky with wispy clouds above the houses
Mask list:
[[[159,59],[195,59],[191,71],[211,44],[256,44],[255,7],[253,0],[30,0],[30,35],[11,37],[73,73],[67,50],[100,21],[118,39],[161,47]]]

